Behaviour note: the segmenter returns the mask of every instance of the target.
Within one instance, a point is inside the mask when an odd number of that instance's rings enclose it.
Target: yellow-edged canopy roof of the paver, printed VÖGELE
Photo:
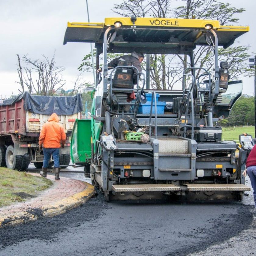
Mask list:
[[[117,22],[121,23],[121,27],[115,27]],[[68,22],[64,44],[102,44],[105,30],[112,27],[116,31],[116,37],[111,42],[109,51],[130,52],[137,49],[144,53],[165,53],[173,48],[170,53],[186,53],[196,45],[207,45],[203,36],[207,33],[206,25],[213,28],[218,36],[218,45],[224,48],[249,31],[249,27],[221,26],[217,20],[137,18],[133,24],[130,18],[119,17],[106,18],[104,23]]]

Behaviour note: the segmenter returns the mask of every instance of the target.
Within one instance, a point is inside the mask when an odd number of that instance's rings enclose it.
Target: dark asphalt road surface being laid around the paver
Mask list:
[[[61,176],[85,179],[83,173]],[[0,255],[254,255],[256,211],[244,202],[110,202],[0,229]]]

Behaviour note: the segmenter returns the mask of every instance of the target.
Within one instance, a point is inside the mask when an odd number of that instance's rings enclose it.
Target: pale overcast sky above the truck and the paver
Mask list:
[[[104,22],[105,17],[115,17],[111,9],[120,0],[88,0],[90,21]],[[250,26],[250,32],[239,38],[240,44],[250,44],[251,52],[256,52],[255,45],[255,0],[229,0],[232,6],[246,11],[237,15],[238,25]],[[64,89],[71,89],[72,82],[79,73],[84,54],[90,51],[90,44],[67,43],[63,38],[67,22],[87,22],[85,0],[0,0],[1,40],[0,40],[0,98],[18,94],[17,56],[28,54],[32,59],[49,58],[56,50],[56,65],[66,67],[63,78],[67,84]],[[84,80],[88,81],[88,74]],[[244,93],[254,94],[254,79],[244,79]]]

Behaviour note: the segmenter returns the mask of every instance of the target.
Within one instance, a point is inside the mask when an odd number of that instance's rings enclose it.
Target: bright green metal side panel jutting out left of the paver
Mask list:
[[[72,163],[91,162],[91,119],[76,119],[71,135]]]

